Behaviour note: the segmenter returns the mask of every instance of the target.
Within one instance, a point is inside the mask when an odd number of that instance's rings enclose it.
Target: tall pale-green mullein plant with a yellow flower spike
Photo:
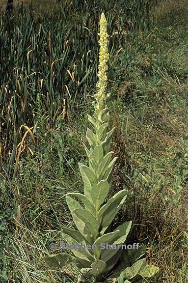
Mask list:
[[[61,269],[65,273],[68,270],[73,273],[79,270],[78,282],[141,283],[157,273],[158,267],[147,265],[146,259],[141,258],[146,253],[145,246],[122,249],[132,222],[125,222],[110,231],[110,224],[129,191],[121,190],[106,200],[117,157],[112,159],[113,151],[110,151],[114,128],[107,132],[109,112],[106,99],[109,95],[106,90],[109,54],[107,20],[104,13],[100,19],[99,36],[99,81],[93,103],[94,115],[88,115],[92,130],[87,128],[86,132],[90,148],[84,145],[88,166],[79,163],[84,193],[66,195],[66,202],[77,230],[65,227],[62,232],[63,240],[72,247],[71,252],[48,256],[45,261],[51,268]]]

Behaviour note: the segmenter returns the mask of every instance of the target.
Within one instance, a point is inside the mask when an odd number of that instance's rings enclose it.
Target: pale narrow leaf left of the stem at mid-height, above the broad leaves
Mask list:
[[[97,176],[95,175],[93,170],[83,165],[82,163],[79,163],[79,168],[84,183],[84,195],[86,198],[91,200],[91,188],[92,185],[98,183]]]

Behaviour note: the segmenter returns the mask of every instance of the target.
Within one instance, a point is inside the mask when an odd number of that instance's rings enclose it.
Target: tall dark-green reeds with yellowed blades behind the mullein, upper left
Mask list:
[[[107,13],[111,35],[111,67],[126,44],[130,25],[150,25],[145,1],[127,0],[122,6],[121,1],[93,5],[92,0],[66,0],[50,8],[48,2],[45,9],[44,2],[26,6],[27,2],[16,5],[10,16],[0,14],[0,147],[9,176],[16,173],[19,150],[37,125],[39,104],[50,127],[61,116],[69,120],[89,108],[97,82],[101,10]],[[23,125],[30,131],[26,133]]]

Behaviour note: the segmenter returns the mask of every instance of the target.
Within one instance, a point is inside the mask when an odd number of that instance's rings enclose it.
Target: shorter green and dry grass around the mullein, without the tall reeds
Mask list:
[[[108,106],[119,160],[110,194],[123,187],[133,192],[113,226],[133,220],[130,243],[145,243],[149,263],[160,267],[153,283],[186,283],[188,14],[183,2],[169,2],[158,4],[158,21],[150,30],[129,34],[111,64]],[[43,256],[53,253],[49,244],[58,242],[62,227],[73,225],[64,195],[82,191],[78,162],[85,160],[85,112],[92,109],[87,104],[68,123],[58,115],[52,125],[40,103],[36,142],[23,142],[16,178],[1,164],[2,283],[66,282],[65,275],[47,269]]]

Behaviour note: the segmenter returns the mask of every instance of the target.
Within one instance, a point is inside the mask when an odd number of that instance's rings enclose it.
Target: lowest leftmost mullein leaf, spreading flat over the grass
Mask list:
[[[63,267],[66,268],[67,265],[73,266],[78,264],[77,259],[69,254],[56,254],[44,257],[46,264],[53,270],[59,270]]]

